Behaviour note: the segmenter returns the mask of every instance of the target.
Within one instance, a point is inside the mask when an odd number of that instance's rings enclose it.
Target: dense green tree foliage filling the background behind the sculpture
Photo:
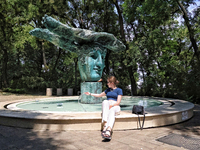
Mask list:
[[[107,52],[103,72],[115,75],[125,95],[131,83],[142,79],[138,95],[180,98],[200,102],[200,69],[177,1],[164,0],[10,0],[0,2],[0,88],[44,91],[46,87],[80,88],[77,56],[29,35],[43,28],[44,14],[72,27],[120,35],[119,4],[127,50]],[[180,1],[185,9],[193,0]],[[188,13],[194,38],[200,41],[200,8]],[[197,42],[199,47],[199,42]],[[44,49],[44,53],[43,50]],[[199,51],[199,50],[198,50]],[[43,56],[45,54],[45,57]],[[7,58],[7,59],[6,59]],[[44,58],[46,65],[44,67]],[[133,78],[134,77],[134,78]],[[135,81],[131,81],[131,80]]]

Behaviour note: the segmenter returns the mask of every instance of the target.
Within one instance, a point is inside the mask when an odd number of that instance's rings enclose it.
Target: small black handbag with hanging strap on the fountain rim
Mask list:
[[[140,129],[143,129],[144,126],[144,120],[145,120],[145,111],[144,111],[144,107],[140,106],[140,105],[133,105],[133,109],[132,109],[132,114],[137,114],[138,115],[138,120],[139,120],[139,125],[140,125]],[[142,126],[140,123],[140,117],[139,115],[144,115],[143,117],[143,122],[142,122]]]

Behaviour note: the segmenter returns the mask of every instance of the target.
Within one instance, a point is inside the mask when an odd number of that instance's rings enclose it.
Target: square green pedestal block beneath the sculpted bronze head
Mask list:
[[[86,95],[84,92],[90,92],[94,94],[100,94],[102,92],[101,82],[83,82],[81,83],[81,103],[84,104],[97,104],[102,102],[101,97],[94,97]]]

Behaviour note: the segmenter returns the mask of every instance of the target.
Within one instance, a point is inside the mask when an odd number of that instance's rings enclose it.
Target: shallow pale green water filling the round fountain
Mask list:
[[[103,99],[104,100],[104,99]],[[122,98],[121,110],[131,110],[133,105],[142,105],[145,108],[162,105],[163,102],[150,98],[128,97]],[[46,100],[25,101],[10,104],[7,106],[12,110],[30,110],[42,112],[101,112],[102,104],[82,104],[78,100],[68,100],[67,98],[54,98]]]

